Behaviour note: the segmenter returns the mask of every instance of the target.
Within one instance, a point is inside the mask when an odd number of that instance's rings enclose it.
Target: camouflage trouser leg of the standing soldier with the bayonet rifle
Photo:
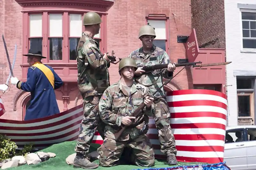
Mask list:
[[[156,113],[154,118],[156,121],[156,129],[158,130],[161,152],[165,155],[176,156],[177,150],[169,123],[170,111],[167,102],[164,98],[158,98],[154,103],[156,104]]]

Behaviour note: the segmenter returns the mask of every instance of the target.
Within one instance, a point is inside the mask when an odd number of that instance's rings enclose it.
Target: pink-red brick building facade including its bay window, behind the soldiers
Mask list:
[[[138,32],[142,25],[149,22],[156,28],[156,45],[166,50],[172,62],[186,57],[184,45],[177,43],[177,36],[188,36],[191,32],[190,0],[182,3],[177,0],[1,0],[0,4],[0,27],[11,62],[14,46],[18,46],[14,76],[26,81],[28,64],[22,54],[28,53],[32,47],[41,49],[47,56],[43,63],[52,66],[65,82],[60,90],[56,90],[60,111],[82,102],[76,87],[73,50],[83,31],[82,17],[87,11],[96,11],[102,17],[100,34],[95,37],[103,53],[114,50],[116,56],[127,57],[141,46]],[[2,41],[0,46],[0,83],[4,83],[9,66]],[[110,83],[113,84],[120,78],[118,65],[111,64],[109,70]],[[183,70],[169,86],[172,89],[193,88],[191,69]],[[1,118],[22,120],[30,99],[29,93],[11,86],[10,91],[1,94],[1,97],[6,109]]]

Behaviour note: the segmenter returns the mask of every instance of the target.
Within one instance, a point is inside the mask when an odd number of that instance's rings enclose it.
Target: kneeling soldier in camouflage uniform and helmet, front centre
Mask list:
[[[148,116],[155,112],[154,98],[149,97],[148,88],[133,81],[136,63],[125,58],[119,63],[121,79],[108,87],[100,99],[100,118],[106,123],[105,138],[98,148],[100,166],[115,166],[120,162],[125,147],[132,150],[129,159],[137,166],[153,166],[155,155],[146,133],[148,131]],[[132,114],[144,102],[146,107],[140,116]],[[132,124],[135,119],[135,124]],[[114,134],[128,127],[116,140]]]

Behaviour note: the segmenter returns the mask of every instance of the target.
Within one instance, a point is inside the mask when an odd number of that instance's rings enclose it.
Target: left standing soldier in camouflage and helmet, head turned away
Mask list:
[[[84,169],[93,169],[99,166],[86,159],[86,154],[96,129],[98,128],[98,131],[101,132],[102,126],[98,126],[100,121],[98,103],[102,93],[109,86],[108,67],[110,61],[107,54],[101,57],[99,44],[93,39],[93,36],[99,33],[100,23],[101,18],[97,13],[88,12],[84,15],[85,31],[82,33],[76,52],[77,82],[84,100],[84,118],[76,142],[74,166]],[[113,63],[116,64],[117,62]]]

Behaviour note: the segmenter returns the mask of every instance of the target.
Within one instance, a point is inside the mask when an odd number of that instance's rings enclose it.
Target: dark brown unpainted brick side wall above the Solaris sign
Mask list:
[[[199,48],[225,48],[224,0],[191,0]]]

